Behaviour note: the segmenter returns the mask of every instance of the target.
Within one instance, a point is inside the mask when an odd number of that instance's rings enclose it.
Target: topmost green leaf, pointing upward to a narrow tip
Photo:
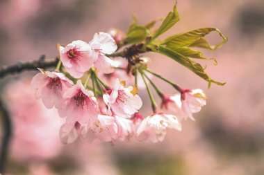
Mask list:
[[[174,8],[173,8],[173,11],[169,12],[167,17],[164,19],[163,23],[160,25],[158,30],[156,30],[156,32],[154,33],[153,39],[155,39],[156,37],[162,35],[167,30],[172,28],[172,26],[174,26],[174,24],[176,24],[176,22],[179,21],[179,20],[180,20],[179,19],[179,14],[177,12],[176,5],[175,5]]]

